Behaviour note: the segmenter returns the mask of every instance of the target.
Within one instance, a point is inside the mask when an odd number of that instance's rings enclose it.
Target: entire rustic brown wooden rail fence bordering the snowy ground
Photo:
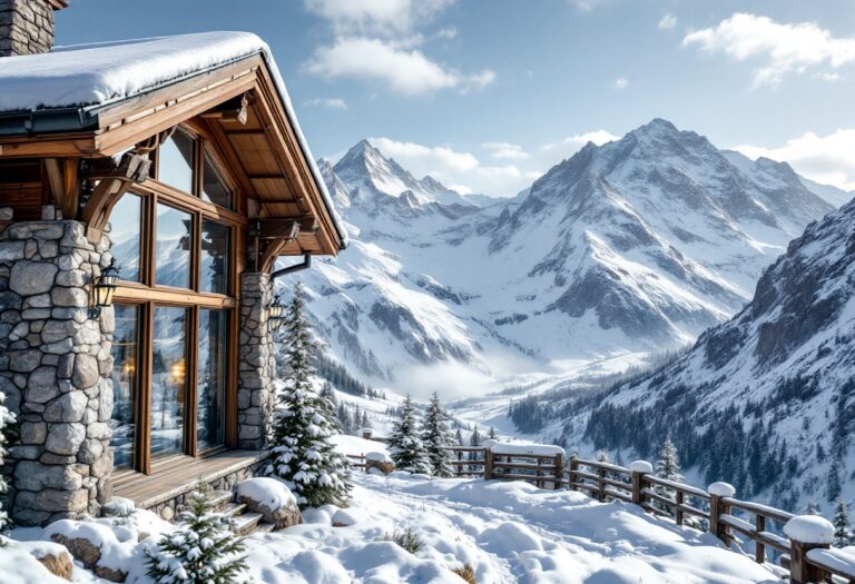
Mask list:
[[[363,435],[366,439],[371,435]],[[385,441],[384,441],[385,442]],[[708,491],[685,483],[653,476],[649,463],[637,462],[630,468],[611,463],[570,457],[564,468],[563,454],[538,452],[493,452],[493,448],[452,446],[455,476],[505,478],[533,483],[540,488],[581,491],[601,502],[618,499],[639,505],[645,511],[690,523],[716,534],[726,545],[739,534],[755,545],[754,560],[767,562],[767,550],[782,555],[778,563],[789,570],[790,582],[808,584],[855,584],[855,557],[829,548],[828,543],[805,543],[773,532],[795,515],[786,511],[735,498],[730,485],[714,484]],[[560,452],[560,449],[558,449]],[[366,468],[364,456],[351,456],[353,466]],[[719,485],[717,488],[716,485]],[[741,515],[741,516],[739,516]],[[748,519],[743,518],[747,516]]]

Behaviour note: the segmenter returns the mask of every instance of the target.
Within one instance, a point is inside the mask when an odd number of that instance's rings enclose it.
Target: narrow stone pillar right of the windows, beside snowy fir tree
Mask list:
[[[267,328],[267,307],[272,301],[269,275],[240,276],[237,446],[252,451],[261,451],[267,444],[275,399],[276,355]]]

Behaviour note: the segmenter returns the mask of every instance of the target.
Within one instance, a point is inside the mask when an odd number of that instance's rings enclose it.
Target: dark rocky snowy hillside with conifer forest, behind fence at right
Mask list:
[[[855,201],[810,225],[733,320],[606,396],[544,394],[571,447],[651,456],[787,508],[855,496]],[[538,409],[537,406],[533,409]]]

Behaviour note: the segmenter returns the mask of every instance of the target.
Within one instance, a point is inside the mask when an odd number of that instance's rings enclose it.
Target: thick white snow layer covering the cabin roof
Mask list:
[[[267,62],[306,162],[346,245],[347,232],[299,128],[276,61],[267,43],[252,32],[199,32],[4,57],[0,59],[0,112],[96,110],[253,55],[262,55]]]

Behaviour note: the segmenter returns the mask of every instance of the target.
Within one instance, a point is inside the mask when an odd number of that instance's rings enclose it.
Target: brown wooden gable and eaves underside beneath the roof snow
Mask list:
[[[245,121],[217,115],[224,105],[242,99]],[[248,198],[247,217],[297,220],[303,226],[281,255],[336,255],[346,245],[262,55],[89,109],[87,115],[94,123],[85,131],[0,136],[0,158],[114,157],[191,120],[207,127],[234,169]]]

